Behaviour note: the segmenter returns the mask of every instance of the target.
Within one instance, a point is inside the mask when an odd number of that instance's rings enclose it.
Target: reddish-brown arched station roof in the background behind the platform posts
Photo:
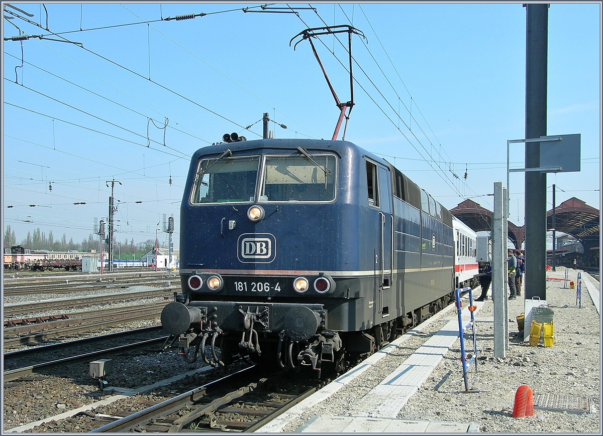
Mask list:
[[[491,231],[492,211],[472,200],[465,200],[450,210],[455,217],[466,223],[475,232]],[[552,230],[553,211],[546,213],[546,229]],[[599,248],[599,210],[578,198],[570,198],[555,208],[555,230],[572,235],[582,243],[585,250]],[[525,225],[519,227],[509,222],[509,239],[516,247],[525,240]]]

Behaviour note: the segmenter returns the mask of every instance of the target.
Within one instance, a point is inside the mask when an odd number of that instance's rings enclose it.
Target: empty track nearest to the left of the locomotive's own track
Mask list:
[[[4,353],[4,382],[14,381],[57,366],[92,360],[118,352],[165,343],[168,336],[161,326],[83,338],[31,349]],[[6,387],[6,385],[5,385]]]

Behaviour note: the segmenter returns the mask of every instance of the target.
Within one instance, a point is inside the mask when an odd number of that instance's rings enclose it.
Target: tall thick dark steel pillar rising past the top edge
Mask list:
[[[526,138],[546,135],[548,4],[526,4]],[[526,168],[540,167],[540,143],[526,143]],[[525,175],[526,299],[546,300],[546,173]],[[529,326],[527,326],[529,328]]]

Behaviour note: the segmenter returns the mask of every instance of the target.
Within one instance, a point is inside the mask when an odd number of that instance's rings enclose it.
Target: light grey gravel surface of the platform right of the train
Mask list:
[[[557,276],[563,278],[564,269]],[[576,272],[569,271],[570,279]],[[549,272],[549,276],[552,276]],[[509,301],[509,349],[505,359],[493,357],[493,302],[488,300],[478,317],[478,372],[469,372],[470,390],[465,393],[463,369],[457,342],[444,356],[428,381],[423,384],[398,414],[399,419],[475,422],[481,432],[592,432],[601,434],[601,345],[600,317],[582,288],[582,308],[567,307],[576,302],[575,290],[563,289],[563,281],[547,282],[547,302],[553,308],[555,343],[544,347],[529,346],[519,338],[516,316],[524,311],[522,297]],[[449,311],[445,317],[453,316]],[[479,322],[479,319],[484,319]],[[488,322],[488,318],[490,322]],[[399,366],[414,349],[438,331],[447,321],[434,322],[421,334],[400,344],[395,352],[378,361],[371,370],[331,397],[292,418],[282,432],[293,432],[316,415],[353,416],[350,411],[358,399],[379,384]],[[523,339],[523,338],[522,338]],[[466,335],[466,346],[472,339]],[[588,397],[590,414],[572,414],[535,410],[535,416],[514,419],[514,396],[517,388],[528,385],[534,394]],[[462,391],[458,393],[458,391]]]

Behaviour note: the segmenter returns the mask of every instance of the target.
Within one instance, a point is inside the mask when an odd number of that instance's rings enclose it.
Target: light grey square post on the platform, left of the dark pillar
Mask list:
[[[502,182],[494,182],[494,212],[492,214],[492,299],[494,301],[494,357],[505,358],[505,273],[507,266],[503,256],[503,211]]]

